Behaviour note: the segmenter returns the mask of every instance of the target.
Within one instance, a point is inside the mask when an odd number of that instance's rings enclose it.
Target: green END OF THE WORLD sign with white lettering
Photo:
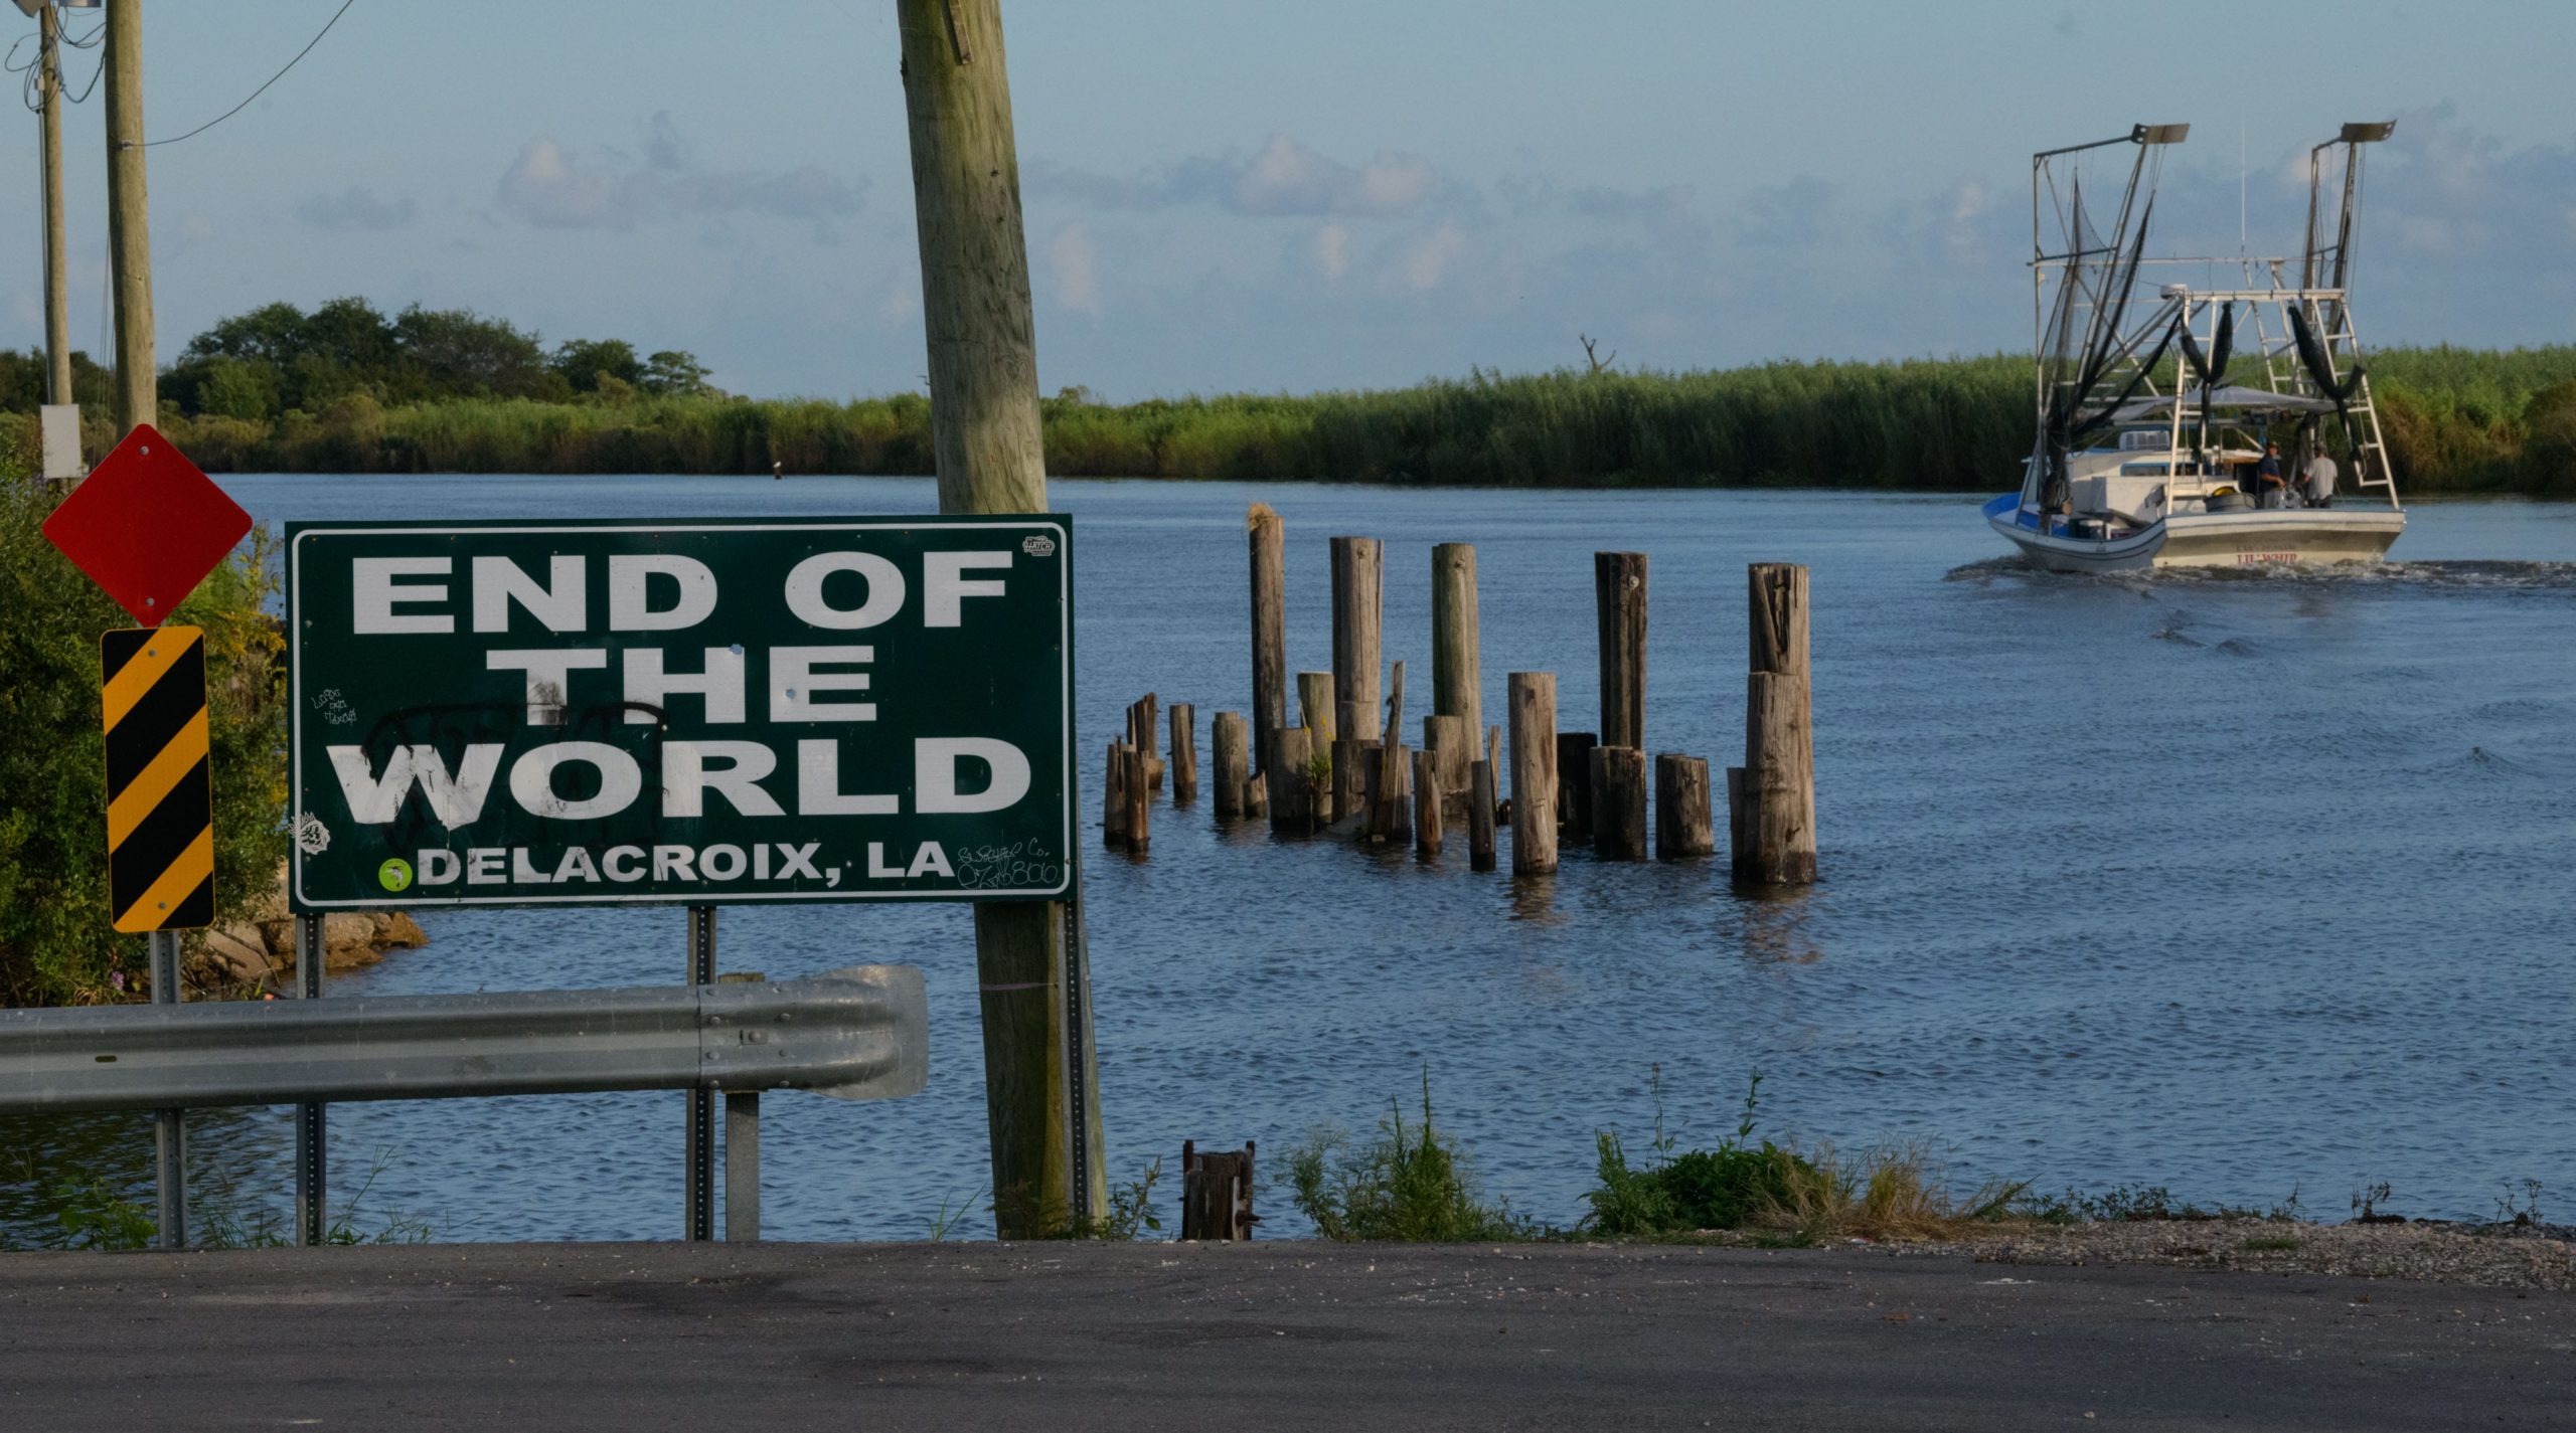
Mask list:
[[[1072,885],[1072,520],[289,522],[296,911]]]

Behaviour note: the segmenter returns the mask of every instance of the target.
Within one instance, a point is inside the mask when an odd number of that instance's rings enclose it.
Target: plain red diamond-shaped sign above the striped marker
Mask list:
[[[196,592],[245,533],[242,504],[147,422],[44,520],[62,556],[147,628]]]

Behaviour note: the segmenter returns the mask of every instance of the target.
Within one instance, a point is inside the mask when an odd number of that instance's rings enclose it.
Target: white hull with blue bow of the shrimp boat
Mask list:
[[[1994,504],[1989,504],[1994,507]],[[2177,512],[2120,538],[2069,538],[2022,527],[2017,512],[1986,522],[2048,571],[2143,571],[2159,566],[2246,569],[2375,563],[2406,530],[2391,507],[2295,507],[2272,512]]]

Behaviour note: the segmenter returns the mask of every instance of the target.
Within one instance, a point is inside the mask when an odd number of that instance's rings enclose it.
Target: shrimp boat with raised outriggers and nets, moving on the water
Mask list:
[[[2393,129],[2347,123],[2308,152],[2298,260],[2146,257],[2161,157],[2187,123],[2032,154],[2038,437],[1986,522],[2050,571],[2380,561],[2406,512],[2347,283],[2362,154]],[[2300,484],[2316,455],[2336,468],[2326,502]]]

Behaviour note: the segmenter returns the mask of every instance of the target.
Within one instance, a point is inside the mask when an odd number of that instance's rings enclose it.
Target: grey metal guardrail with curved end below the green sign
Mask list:
[[[0,1011],[0,1111],[577,1091],[902,1099],[930,1073],[909,965],[739,985]]]

